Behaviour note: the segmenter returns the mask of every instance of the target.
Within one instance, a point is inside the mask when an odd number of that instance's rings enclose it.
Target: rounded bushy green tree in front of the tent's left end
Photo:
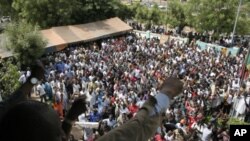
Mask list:
[[[43,55],[47,42],[43,39],[38,26],[27,22],[11,23],[4,31],[4,46],[11,50],[23,65],[30,65]]]

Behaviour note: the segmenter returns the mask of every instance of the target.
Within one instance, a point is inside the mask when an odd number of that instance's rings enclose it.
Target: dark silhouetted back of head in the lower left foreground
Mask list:
[[[0,140],[60,141],[60,129],[59,117],[51,107],[38,101],[23,101],[3,115]]]

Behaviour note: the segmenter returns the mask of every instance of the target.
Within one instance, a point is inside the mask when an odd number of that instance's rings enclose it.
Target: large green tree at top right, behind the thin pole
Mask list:
[[[230,33],[233,29],[239,0],[190,0],[187,6],[187,22],[202,31]],[[249,7],[248,7],[249,9]],[[245,34],[249,24],[246,10],[241,10],[237,33]]]

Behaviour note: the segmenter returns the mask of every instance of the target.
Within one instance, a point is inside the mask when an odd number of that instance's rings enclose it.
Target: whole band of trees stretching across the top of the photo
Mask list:
[[[250,28],[250,0],[243,0],[237,34],[247,34]],[[4,15],[13,19],[25,19],[41,28],[69,24],[82,24],[118,16],[134,18],[139,22],[154,25],[180,27],[188,25],[197,31],[230,33],[233,29],[239,0],[169,0],[166,10],[157,5],[151,7],[132,3],[125,5],[120,0],[1,0]]]

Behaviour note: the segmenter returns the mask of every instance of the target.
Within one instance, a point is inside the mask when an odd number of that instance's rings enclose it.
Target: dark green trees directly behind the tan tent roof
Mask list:
[[[119,0],[13,0],[10,9],[18,13],[16,18],[42,28],[129,16]]]

